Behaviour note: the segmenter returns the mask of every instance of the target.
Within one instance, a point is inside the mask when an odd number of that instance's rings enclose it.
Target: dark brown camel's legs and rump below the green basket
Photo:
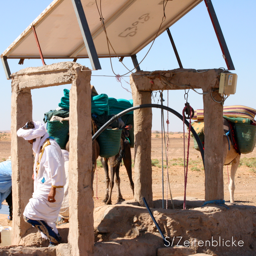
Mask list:
[[[105,170],[105,185],[106,185],[106,193],[105,198],[102,200],[102,202],[105,202],[105,204],[112,204],[111,201],[111,195],[112,190],[114,187],[114,177],[116,174],[115,182],[117,185],[117,202],[125,201],[121,195],[120,191],[120,177],[119,177],[119,168],[120,163],[122,162],[126,168],[129,181],[130,181],[130,187],[133,191],[134,195],[134,182],[132,180],[132,155],[131,155],[131,148],[129,142],[125,139],[125,129],[123,129],[122,135],[121,135],[121,143],[120,143],[120,150],[119,153],[114,156],[107,158],[100,158],[100,161],[102,163],[102,166]],[[111,173],[111,179],[109,179],[109,168],[108,168],[108,161],[110,163],[110,173]],[[109,191],[110,188],[110,191]]]

